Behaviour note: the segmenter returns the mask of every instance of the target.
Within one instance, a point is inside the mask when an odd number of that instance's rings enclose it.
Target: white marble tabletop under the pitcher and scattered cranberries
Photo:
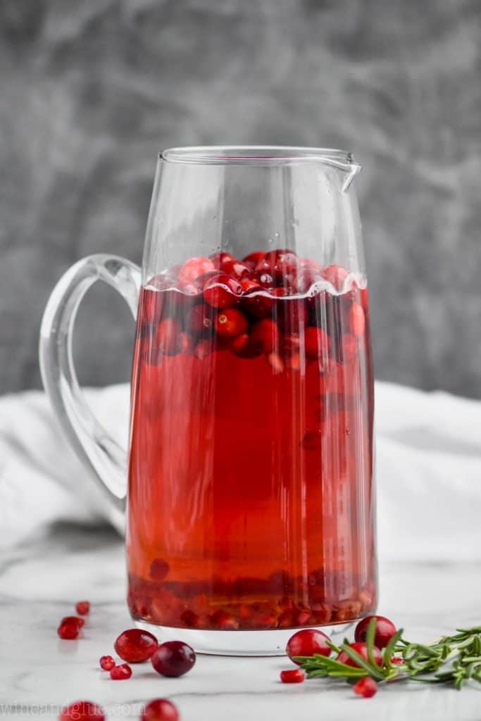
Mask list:
[[[284,658],[199,656],[183,678],[157,676],[147,663],[128,681],[110,681],[98,659],[131,627],[124,587],[123,547],[110,531],[59,525],[9,551],[0,567],[0,716],[55,719],[62,704],[89,699],[110,719],[136,719],[141,704],[167,696],[182,721],[481,719],[481,686],[394,684],[359,699],[343,683],[281,684]],[[58,640],[59,619],[81,598],[92,603],[81,639]],[[480,565],[387,565],[379,609],[416,640],[480,624]]]

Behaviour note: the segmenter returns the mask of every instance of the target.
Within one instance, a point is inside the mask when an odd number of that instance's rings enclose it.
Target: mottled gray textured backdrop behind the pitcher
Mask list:
[[[156,151],[352,149],[376,375],[481,397],[479,0],[0,0],[0,391],[38,386],[50,288],[138,261]],[[128,377],[132,325],[92,291],[82,381]]]

